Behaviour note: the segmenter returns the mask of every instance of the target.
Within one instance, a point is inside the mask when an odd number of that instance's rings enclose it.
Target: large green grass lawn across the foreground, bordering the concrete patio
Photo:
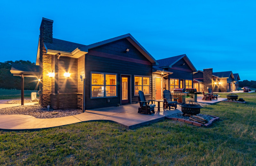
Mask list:
[[[87,122],[0,131],[0,165],[255,166],[256,93],[238,95],[247,103],[220,102],[201,109],[220,117],[210,128],[163,120],[132,130]]]

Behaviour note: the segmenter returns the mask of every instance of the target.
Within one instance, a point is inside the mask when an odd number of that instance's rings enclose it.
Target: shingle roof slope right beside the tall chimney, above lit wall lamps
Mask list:
[[[47,49],[52,49],[56,51],[63,51],[63,52],[72,52],[76,48],[84,47],[86,45],[73,43],[70,41],[60,40],[52,38],[52,43],[44,43]]]

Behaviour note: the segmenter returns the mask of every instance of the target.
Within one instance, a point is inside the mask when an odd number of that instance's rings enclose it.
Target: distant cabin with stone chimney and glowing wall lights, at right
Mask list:
[[[212,72],[212,68],[209,68],[198,70],[193,75],[193,84],[200,92],[208,92],[208,88],[212,88],[214,92],[231,92],[238,89],[235,88],[238,81],[235,80],[232,71]]]

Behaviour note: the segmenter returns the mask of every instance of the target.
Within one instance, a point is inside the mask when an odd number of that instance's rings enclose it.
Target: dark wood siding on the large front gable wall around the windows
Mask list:
[[[126,49],[130,49],[126,52]],[[90,55],[90,52],[93,55]],[[112,54],[115,56],[123,56],[128,58],[133,58],[134,62],[124,60],[110,59],[106,57],[95,56],[96,52],[101,52],[105,54]],[[130,52],[131,51],[131,52]],[[126,52],[126,53],[125,53]],[[138,102],[138,96],[134,95],[134,75],[148,76],[150,77],[150,95],[145,95],[147,99],[152,98],[152,64],[141,64],[138,60],[144,60],[149,62],[129,41],[126,39],[108,43],[104,46],[94,48],[89,50],[85,55],[85,71],[86,71],[86,109],[100,108],[100,107],[110,107],[116,106],[121,102],[121,74],[131,75],[131,97],[132,103]],[[105,97],[105,98],[92,98],[91,99],[91,72],[103,72],[103,73],[113,73],[117,74],[117,97]],[[109,100],[109,102],[108,102]]]

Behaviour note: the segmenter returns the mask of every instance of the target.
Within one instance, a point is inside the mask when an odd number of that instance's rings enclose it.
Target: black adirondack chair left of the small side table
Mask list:
[[[138,113],[145,113],[145,114],[150,114],[155,113],[155,107],[156,104],[149,104],[150,101],[146,101],[146,98],[144,96],[144,93],[139,90],[139,102],[140,102],[140,107],[138,109]]]

